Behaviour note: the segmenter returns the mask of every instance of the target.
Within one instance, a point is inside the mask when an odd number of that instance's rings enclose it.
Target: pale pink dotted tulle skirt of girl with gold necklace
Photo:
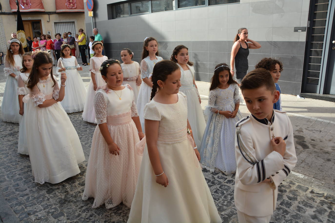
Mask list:
[[[139,142],[137,129],[130,118],[128,123],[108,125],[108,130],[121,149],[120,155],[109,153],[97,125],[93,133],[82,199],[93,197],[92,208],[103,204],[107,209],[113,208],[121,202],[130,207],[142,159],[135,152],[135,144]]]

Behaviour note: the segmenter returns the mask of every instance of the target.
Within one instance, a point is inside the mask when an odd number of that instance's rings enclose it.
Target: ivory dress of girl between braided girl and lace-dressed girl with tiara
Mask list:
[[[195,144],[200,146],[206,128],[206,122],[199,103],[198,90],[193,85],[194,67],[187,64],[189,70],[184,71],[178,63],[177,65],[182,74],[180,79],[182,86],[179,88],[179,91],[187,96],[187,119],[192,128]]]

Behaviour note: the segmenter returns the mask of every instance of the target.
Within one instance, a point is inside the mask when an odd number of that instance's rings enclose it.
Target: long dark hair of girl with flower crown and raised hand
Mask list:
[[[34,58],[34,65],[32,65],[30,75],[28,77],[28,84],[27,88],[31,89],[37,85],[37,83],[40,81],[40,74],[38,72],[38,68],[43,64],[51,64],[52,65],[52,58],[51,55],[48,53],[48,51],[41,51],[39,50],[36,53],[32,53],[32,58]],[[54,79],[54,76],[52,74],[52,69],[50,71],[51,79],[54,82],[53,87],[56,85],[56,81]]]

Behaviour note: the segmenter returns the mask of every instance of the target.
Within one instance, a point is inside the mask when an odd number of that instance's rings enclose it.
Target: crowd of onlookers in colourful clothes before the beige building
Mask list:
[[[102,36],[98,33],[98,29],[93,29],[94,36],[89,37],[89,42],[86,40],[86,34],[83,29],[79,29],[79,34],[72,36],[71,32],[64,32],[63,36],[60,33],[55,34],[55,39],[51,35],[41,34],[40,36],[34,36],[32,39],[30,36],[27,36],[27,47],[24,48],[25,51],[35,51],[37,49],[48,51],[52,55],[53,65],[57,65],[58,59],[61,57],[61,47],[63,44],[70,45],[71,54],[76,58],[82,58],[82,65],[86,66],[86,49],[91,50],[90,44],[93,41],[104,42]],[[17,38],[16,32],[12,32],[12,38]],[[89,44],[90,43],[90,44]],[[2,52],[1,52],[2,53]],[[104,54],[104,51],[103,51]],[[4,56],[0,54],[0,57]],[[89,52],[88,57],[92,57],[91,52]],[[0,63],[0,65],[2,62]]]

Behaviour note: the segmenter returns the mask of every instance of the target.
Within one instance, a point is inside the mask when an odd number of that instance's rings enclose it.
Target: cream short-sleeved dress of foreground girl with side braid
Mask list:
[[[187,137],[187,99],[175,104],[152,99],[144,118],[159,121],[157,149],[169,185],[156,183],[145,146],[128,222],[222,222]]]

